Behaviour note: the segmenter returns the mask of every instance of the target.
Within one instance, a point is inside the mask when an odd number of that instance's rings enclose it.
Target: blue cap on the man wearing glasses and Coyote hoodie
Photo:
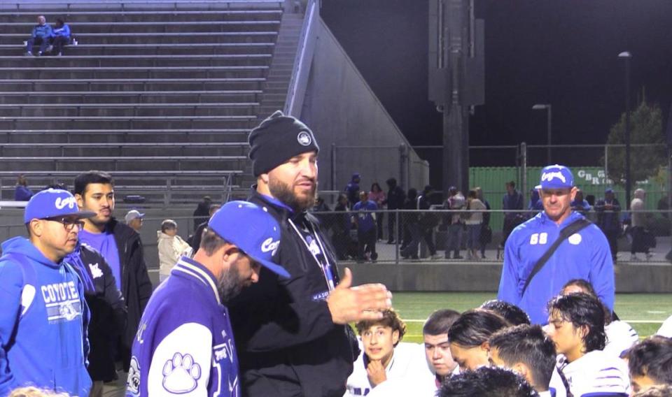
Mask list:
[[[23,213],[23,222],[69,215],[77,215],[78,218],[83,219],[94,217],[96,213],[80,211],[75,196],[67,190],[46,189],[30,198]]]

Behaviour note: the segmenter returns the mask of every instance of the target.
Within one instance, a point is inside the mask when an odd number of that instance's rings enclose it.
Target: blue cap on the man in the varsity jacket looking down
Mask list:
[[[280,225],[265,208],[247,201],[229,201],[212,215],[208,228],[276,275],[290,275],[272,261],[280,245]]]

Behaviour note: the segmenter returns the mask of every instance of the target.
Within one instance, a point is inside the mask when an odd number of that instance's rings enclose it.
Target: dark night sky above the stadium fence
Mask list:
[[[672,1],[475,0],[485,20],[486,103],[471,118],[471,145],[604,143],[645,87],[664,118],[672,101]],[[323,0],[323,19],[412,145],[442,143],[427,99],[428,0]],[[475,159],[477,160],[477,159]]]

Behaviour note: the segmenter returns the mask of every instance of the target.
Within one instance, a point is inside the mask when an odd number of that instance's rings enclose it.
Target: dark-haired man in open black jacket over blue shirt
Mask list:
[[[75,197],[80,208],[96,212],[94,217],[85,219],[79,239],[105,258],[126,303],[127,323],[118,342],[116,356],[127,372],[140,317],[152,294],[140,236],[130,226],[118,222],[112,216],[114,185],[109,173],[87,171],[77,175]],[[121,381],[125,384],[125,379]],[[123,384],[119,387],[123,387]]]

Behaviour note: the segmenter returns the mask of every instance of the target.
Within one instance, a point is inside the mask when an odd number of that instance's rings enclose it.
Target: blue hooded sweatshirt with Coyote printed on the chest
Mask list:
[[[0,396],[26,384],[88,396],[89,312],[77,273],[24,237],[6,240],[2,252]]]

